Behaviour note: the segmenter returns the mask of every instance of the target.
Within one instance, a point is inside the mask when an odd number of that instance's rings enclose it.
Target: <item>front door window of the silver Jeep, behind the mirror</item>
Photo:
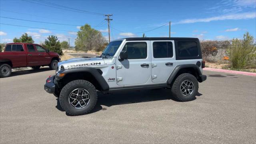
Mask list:
[[[128,52],[128,59],[144,59],[147,58],[147,43],[127,42],[123,51]]]

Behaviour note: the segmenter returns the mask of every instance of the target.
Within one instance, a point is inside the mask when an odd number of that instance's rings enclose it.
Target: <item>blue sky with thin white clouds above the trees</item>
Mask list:
[[[34,3],[32,3],[34,2]],[[142,33],[172,22],[172,37],[197,37],[200,40],[229,40],[242,38],[248,31],[256,37],[256,0],[180,0],[180,1],[84,1],[84,0],[0,0],[0,42],[12,42],[24,32],[32,36],[36,43],[43,42],[47,36],[56,35],[60,41],[70,38],[74,46],[79,26],[90,24],[107,33],[105,16],[74,12],[53,8],[51,2],[69,8],[113,14],[110,23],[111,40],[124,37],[141,37]],[[36,4],[37,3],[37,4]],[[46,6],[45,6],[46,5]],[[8,18],[34,20],[50,23],[71,24],[56,25],[28,22]],[[38,27],[24,28],[4,24]],[[167,37],[169,26],[163,26],[150,32],[147,37]],[[58,29],[58,30],[48,30]],[[65,30],[65,31],[59,31]]]

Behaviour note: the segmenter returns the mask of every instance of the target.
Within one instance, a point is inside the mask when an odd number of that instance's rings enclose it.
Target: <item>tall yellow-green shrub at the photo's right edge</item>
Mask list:
[[[242,40],[232,40],[228,54],[233,68],[255,68],[256,46],[253,45],[253,39],[253,36],[246,32]]]

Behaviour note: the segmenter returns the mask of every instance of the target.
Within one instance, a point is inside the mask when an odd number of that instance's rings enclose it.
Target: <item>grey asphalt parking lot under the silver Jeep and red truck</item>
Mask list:
[[[94,111],[67,116],[44,91],[54,70],[0,79],[0,143],[256,143],[256,77],[204,71],[191,102],[170,90],[100,94]]]

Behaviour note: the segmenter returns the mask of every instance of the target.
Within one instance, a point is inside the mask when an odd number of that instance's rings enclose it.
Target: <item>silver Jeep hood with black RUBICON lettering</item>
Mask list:
[[[104,65],[104,59],[99,57],[93,58],[71,58],[58,63],[58,67],[64,66],[64,68],[73,68],[81,66],[100,66]]]

